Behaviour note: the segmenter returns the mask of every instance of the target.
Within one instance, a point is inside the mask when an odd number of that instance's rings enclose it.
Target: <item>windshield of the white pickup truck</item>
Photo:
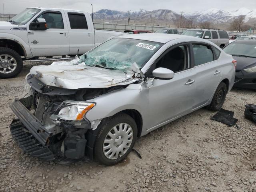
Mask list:
[[[34,8],[25,9],[18,15],[14,16],[11,20],[9,20],[9,22],[16,25],[24,25],[39,11],[40,9],[34,9]]]

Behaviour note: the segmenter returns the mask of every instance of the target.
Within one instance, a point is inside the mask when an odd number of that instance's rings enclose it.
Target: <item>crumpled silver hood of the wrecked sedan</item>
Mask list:
[[[132,68],[125,71],[111,70],[86,66],[83,63],[76,64],[78,60],[53,62],[50,66],[34,66],[30,74],[46,85],[67,89],[106,88],[130,84],[140,79],[133,78],[135,72]]]

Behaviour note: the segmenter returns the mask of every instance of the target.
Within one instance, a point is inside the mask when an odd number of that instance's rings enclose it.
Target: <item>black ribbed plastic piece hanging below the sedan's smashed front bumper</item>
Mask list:
[[[54,160],[56,156],[48,147],[40,144],[36,138],[29,132],[20,120],[14,119],[10,124],[12,137],[22,150],[44,160]]]

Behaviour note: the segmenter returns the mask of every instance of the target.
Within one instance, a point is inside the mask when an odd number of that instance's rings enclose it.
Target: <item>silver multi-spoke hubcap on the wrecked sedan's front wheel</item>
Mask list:
[[[103,152],[108,159],[123,156],[130,148],[133,140],[132,127],[127,123],[114,126],[105,137]]]

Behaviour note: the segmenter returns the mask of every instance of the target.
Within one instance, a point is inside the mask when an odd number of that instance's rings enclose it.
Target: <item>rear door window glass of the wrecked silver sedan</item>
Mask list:
[[[208,63],[214,60],[211,46],[202,44],[192,44],[194,52],[194,66],[198,66],[204,63]]]

